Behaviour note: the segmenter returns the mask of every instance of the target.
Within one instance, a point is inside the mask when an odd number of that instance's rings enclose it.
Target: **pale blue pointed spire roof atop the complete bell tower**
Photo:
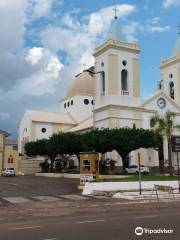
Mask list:
[[[111,25],[108,32],[108,39],[113,39],[120,42],[127,42],[117,17],[114,17],[113,20],[111,21]]]

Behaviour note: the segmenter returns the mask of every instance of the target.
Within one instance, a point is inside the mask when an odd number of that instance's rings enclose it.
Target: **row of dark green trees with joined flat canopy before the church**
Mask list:
[[[79,160],[79,153],[83,151],[106,153],[116,150],[125,169],[127,155],[139,148],[157,147],[157,136],[154,131],[136,128],[93,129],[82,134],[60,132],[48,140],[27,143],[25,152],[28,156],[48,156],[52,170],[57,155],[76,154]]]

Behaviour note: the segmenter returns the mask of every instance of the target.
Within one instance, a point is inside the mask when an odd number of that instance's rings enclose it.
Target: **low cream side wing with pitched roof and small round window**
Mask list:
[[[27,110],[19,125],[18,151],[23,154],[25,143],[48,139],[53,133],[68,131],[76,125],[69,114]]]

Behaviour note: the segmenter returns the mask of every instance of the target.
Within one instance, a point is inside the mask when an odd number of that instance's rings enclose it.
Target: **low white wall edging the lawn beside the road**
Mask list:
[[[144,181],[141,183],[142,190],[152,190],[154,184],[163,186],[172,186],[178,188],[177,181]],[[93,191],[138,191],[139,182],[98,182],[86,183],[84,186],[83,195],[91,195]]]

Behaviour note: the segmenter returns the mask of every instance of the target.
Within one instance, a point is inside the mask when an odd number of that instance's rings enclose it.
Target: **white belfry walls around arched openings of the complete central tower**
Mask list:
[[[129,44],[130,48],[131,45]],[[138,49],[137,49],[137,52]],[[112,75],[110,74],[110,57],[113,56],[117,59],[117,71],[114,73],[117,79],[111,79]],[[133,96],[133,89],[134,89],[134,75],[133,75],[133,62],[132,60],[137,59],[139,60],[138,53],[126,53],[122,50],[117,49],[108,49],[107,51],[103,52],[102,54],[98,55],[95,58],[95,98],[96,104],[95,108],[99,108],[103,105],[107,104],[122,104],[129,106],[137,106],[140,104],[140,98]],[[126,61],[127,65],[123,65],[123,61]],[[113,63],[112,63],[113,65]],[[121,86],[121,71],[126,70],[128,72],[128,91],[123,91]],[[104,71],[105,73],[105,92],[102,92],[102,83],[101,83],[101,72]],[[99,74],[98,74],[99,72]],[[115,77],[115,76],[114,76]],[[116,83],[112,81],[116,80]],[[110,84],[116,84],[116,92],[112,92],[109,94],[110,91]],[[126,95],[127,94],[127,95]]]

